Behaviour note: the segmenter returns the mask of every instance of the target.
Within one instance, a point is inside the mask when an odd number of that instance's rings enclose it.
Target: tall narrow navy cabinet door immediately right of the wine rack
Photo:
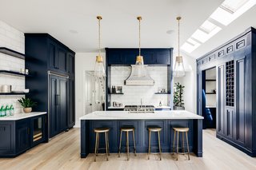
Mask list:
[[[246,135],[246,57],[235,61],[236,67],[236,139],[245,144]]]

